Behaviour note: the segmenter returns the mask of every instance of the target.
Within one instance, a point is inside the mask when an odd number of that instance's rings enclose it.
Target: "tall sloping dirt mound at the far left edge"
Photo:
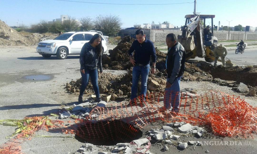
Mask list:
[[[30,45],[19,32],[0,20],[0,45]]]

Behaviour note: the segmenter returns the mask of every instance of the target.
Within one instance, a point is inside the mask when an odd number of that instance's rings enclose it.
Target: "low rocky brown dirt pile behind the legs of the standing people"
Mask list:
[[[132,71],[131,68],[125,75],[113,75],[111,73],[102,73],[98,76],[98,85],[100,94],[112,95],[111,100],[123,100],[130,98],[131,86],[132,86]],[[82,78],[78,80],[72,80],[70,83],[66,83],[66,90],[71,93],[78,93],[81,86]],[[166,80],[165,77],[159,77],[149,73],[148,78],[148,91],[164,91]],[[141,81],[138,84],[138,94],[140,95]],[[85,94],[94,93],[93,86],[89,80],[88,86],[85,90]]]

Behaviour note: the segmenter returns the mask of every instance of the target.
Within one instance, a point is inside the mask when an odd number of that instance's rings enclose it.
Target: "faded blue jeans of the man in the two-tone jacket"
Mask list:
[[[180,79],[181,76],[176,78],[170,88],[165,88],[164,94],[164,107],[172,111],[179,112],[179,103],[180,103]],[[168,82],[169,78],[167,79]]]

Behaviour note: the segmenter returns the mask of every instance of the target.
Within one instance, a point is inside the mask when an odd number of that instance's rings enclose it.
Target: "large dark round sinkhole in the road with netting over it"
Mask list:
[[[82,143],[112,146],[117,143],[130,143],[142,137],[143,132],[122,120],[81,122],[75,138]]]

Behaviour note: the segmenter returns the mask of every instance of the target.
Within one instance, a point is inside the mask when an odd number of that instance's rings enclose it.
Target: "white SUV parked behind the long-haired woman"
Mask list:
[[[41,41],[36,51],[45,58],[57,56],[66,59],[67,55],[79,55],[83,45],[91,40],[96,32],[68,32],[63,33],[53,40]],[[101,36],[102,37],[102,36]],[[104,52],[107,51],[106,41],[102,37]]]

